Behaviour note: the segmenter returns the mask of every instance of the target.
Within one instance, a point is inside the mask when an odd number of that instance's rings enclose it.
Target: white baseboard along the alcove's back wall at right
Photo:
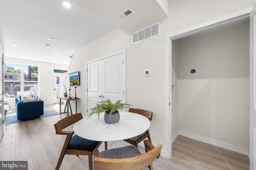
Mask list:
[[[189,137],[191,139],[195,139],[197,141],[201,141],[201,142],[204,142],[204,143],[208,143],[208,144],[211,144],[211,145],[214,145],[214,146],[217,146],[217,147],[221,147],[221,148],[224,148],[224,149],[228,149],[228,150],[232,150],[234,152],[238,152],[238,153],[241,153],[241,154],[245,154],[247,156],[248,155],[248,150],[246,149],[242,149],[242,148],[239,148],[239,147],[235,147],[233,145],[228,145],[226,143],[221,143],[221,142],[218,142],[218,141],[214,141],[212,139],[207,139],[207,138],[204,138],[204,137],[200,137],[200,136],[196,136],[196,135],[192,135],[190,133],[186,133],[186,132],[182,132],[182,131],[178,131],[177,133],[177,136],[178,135],[182,135],[182,136],[185,136],[185,137]],[[176,137],[177,137],[176,136]],[[175,139],[176,139],[175,137]],[[174,140],[175,140],[174,139]],[[173,140],[173,141],[174,141]]]

